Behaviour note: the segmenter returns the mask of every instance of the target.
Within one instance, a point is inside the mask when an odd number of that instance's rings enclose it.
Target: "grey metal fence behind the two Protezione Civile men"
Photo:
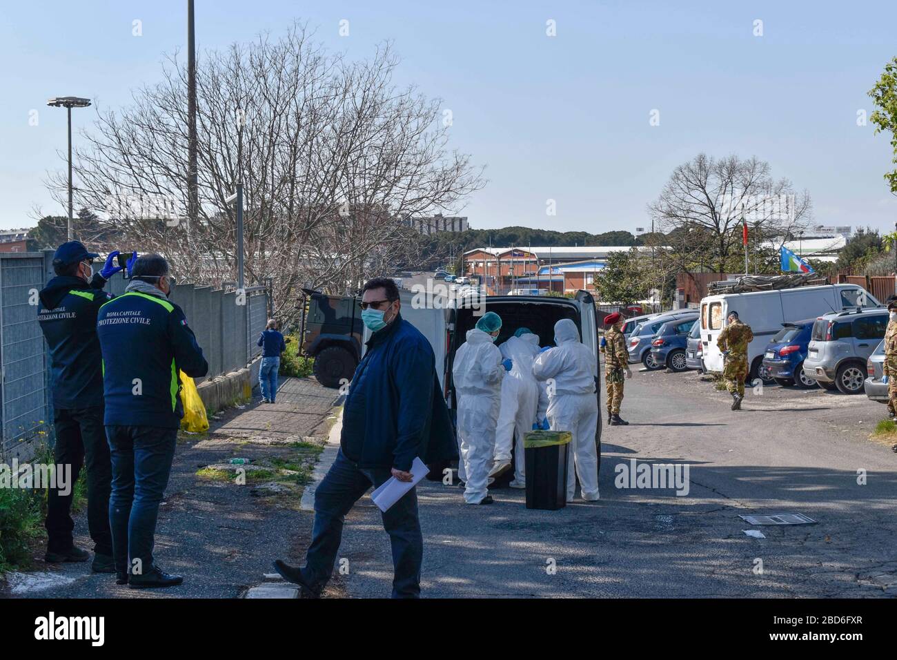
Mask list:
[[[13,456],[28,458],[36,440],[52,435],[49,353],[38,324],[38,292],[54,277],[52,261],[53,251],[0,254],[0,458],[4,461]],[[126,286],[127,280],[118,274],[106,290],[120,295]],[[208,382],[200,386],[200,392],[215,392],[213,399],[221,399],[223,405],[232,388],[222,390],[219,382],[234,378],[245,392],[244,383],[249,383],[250,373],[257,373],[256,358],[262,350],[256,342],[268,316],[266,288],[250,286],[238,295],[211,286],[178,284],[171,301],[184,310],[209,363],[208,376],[196,379],[197,385]],[[220,378],[225,374],[228,379]]]

